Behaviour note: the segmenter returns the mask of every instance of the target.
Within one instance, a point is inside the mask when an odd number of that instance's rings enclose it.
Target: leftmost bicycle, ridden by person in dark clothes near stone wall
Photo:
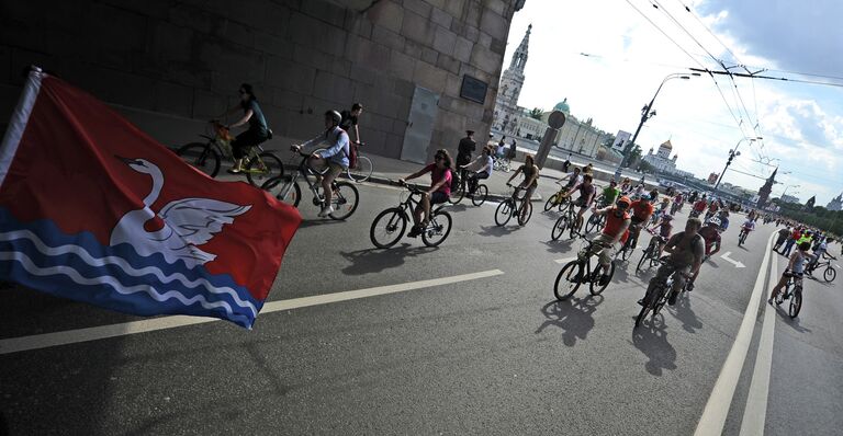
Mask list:
[[[181,157],[188,164],[205,173],[209,177],[215,177],[220,172],[222,158],[234,162],[234,152],[232,150],[232,140],[234,137],[228,129],[217,121],[209,123],[207,134],[199,136],[207,139],[206,142],[190,142],[179,147],[176,154]],[[252,186],[259,186],[272,177],[284,175],[284,164],[281,159],[271,151],[263,150],[260,145],[249,148],[246,153],[246,180]]]

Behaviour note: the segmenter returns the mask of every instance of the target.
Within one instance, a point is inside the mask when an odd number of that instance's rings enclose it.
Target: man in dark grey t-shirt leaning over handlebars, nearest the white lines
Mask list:
[[[685,286],[685,280],[697,273],[702,264],[705,242],[698,233],[700,227],[702,227],[702,221],[699,218],[688,218],[685,223],[685,231],[671,237],[667,244],[664,245],[664,251],[668,253],[666,262],[659,267],[655,277],[650,280],[647,295],[650,295],[655,284],[663,283],[673,275],[673,289],[671,289],[667,303],[671,306],[676,303],[676,297]],[[643,299],[638,302],[639,305],[645,303]]]

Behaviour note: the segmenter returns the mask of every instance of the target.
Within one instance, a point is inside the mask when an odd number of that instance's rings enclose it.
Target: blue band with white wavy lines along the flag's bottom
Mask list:
[[[0,208],[0,276],[48,294],[139,314],[192,314],[250,328],[262,301],[204,267],[139,256],[92,233],[63,233],[52,221],[19,222]]]

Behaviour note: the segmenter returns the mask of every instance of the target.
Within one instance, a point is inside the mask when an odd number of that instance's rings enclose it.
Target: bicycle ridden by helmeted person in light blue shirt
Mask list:
[[[292,175],[272,177],[266,181],[260,188],[271,193],[272,188],[281,185],[281,190],[276,194],[276,198],[293,207],[299,207],[299,203],[302,200],[302,188],[299,186],[297,182],[301,176],[304,179],[305,183],[307,183],[311,193],[313,193],[313,205],[322,208],[325,205],[325,199],[319,194],[322,185],[312,182],[310,176],[322,175],[327,169],[317,171],[311,168],[307,164],[307,160],[312,154],[304,153],[295,148],[291,148],[291,150],[302,157],[302,161],[299,163],[296,171]],[[360,203],[360,193],[353,184],[342,181],[334,181],[334,183],[331,183],[331,191],[334,195],[331,195],[330,198],[330,206],[334,208],[334,211],[329,215],[330,218],[336,220],[347,219],[355,213],[355,210],[357,210],[357,205]]]

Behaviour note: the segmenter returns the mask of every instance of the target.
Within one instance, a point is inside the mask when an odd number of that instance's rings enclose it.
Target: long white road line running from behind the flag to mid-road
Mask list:
[[[271,313],[280,310],[290,310],[317,305],[327,305],[338,301],[353,300],[358,298],[374,297],[386,294],[403,292],[407,290],[429,288],[434,286],[451,285],[460,282],[476,280],[504,274],[501,269],[488,269],[479,273],[462,274],[450,277],[432,278],[429,280],[408,282],[397,285],[378,286],[367,289],[348,290],[344,292],[325,294],[312,297],[293,298],[289,300],[271,301],[263,305],[260,313]],[[0,355],[25,352],[31,349],[47,348],[59,345],[76,344],[103,340],[108,337],[126,336],[154,332],[157,330],[175,329],[184,325],[202,324],[206,322],[222,321],[216,318],[173,315],[150,320],[132,321],[121,324],[101,325],[87,329],[68,330],[64,332],[35,334],[31,336],[11,337],[0,340]]]

